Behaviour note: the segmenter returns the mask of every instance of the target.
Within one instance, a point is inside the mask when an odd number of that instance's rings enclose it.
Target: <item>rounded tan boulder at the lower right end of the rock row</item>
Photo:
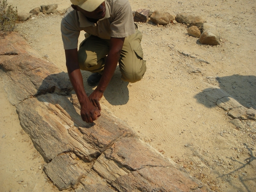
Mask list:
[[[220,43],[220,39],[221,36],[218,31],[214,29],[207,29],[201,34],[199,41],[201,44],[218,45]]]

